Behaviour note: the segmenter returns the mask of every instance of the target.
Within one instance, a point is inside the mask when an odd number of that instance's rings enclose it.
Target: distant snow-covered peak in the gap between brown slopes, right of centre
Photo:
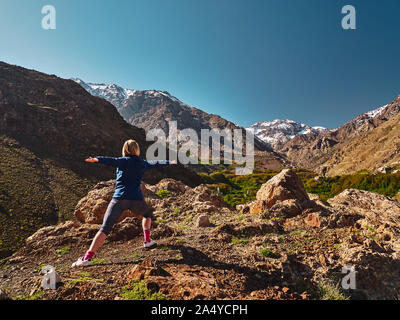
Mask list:
[[[294,137],[307,133],[326,131],[324,127],[311,127],[293,120],[274,120],[257,122],[247,128],[253,134],[274,149]]]

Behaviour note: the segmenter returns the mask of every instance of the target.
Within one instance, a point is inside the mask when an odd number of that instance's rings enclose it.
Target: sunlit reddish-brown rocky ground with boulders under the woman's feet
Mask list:
[[[69,267],[99,228],[112,192],[112,182],[104,182],[79,202],[75,221],[39,230],[0,263],[0,289],[20,299],[129,299],[138,297],[138,286],[147,290],[142,298],[398,297],[400,204],[389,198],[345,190],[323,202],[290,170],[240,211],[205,186],[166,179],[143,190],[156,209],[157,248],[143,249],[140,220],[126,212],[95,265]],[[41,291],[44,264],[61,276],[56,290]],[[356,288],[342,290],[337,284],[348,265]]]

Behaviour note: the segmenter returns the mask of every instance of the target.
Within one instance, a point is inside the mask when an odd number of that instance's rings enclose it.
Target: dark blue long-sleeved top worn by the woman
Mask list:
[[[143,200],[143,194],[140,190],[140,183],[144,173],[150,169],[157,169],[169,165],[165,163],[151,164],[138,156],[109,158],[96,157],[101,164],[116,168],[116,181],[113,198],[128,200]]]

